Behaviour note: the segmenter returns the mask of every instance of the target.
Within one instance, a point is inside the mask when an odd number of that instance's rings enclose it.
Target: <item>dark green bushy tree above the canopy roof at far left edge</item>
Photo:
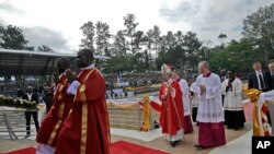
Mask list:
[[[13,25],[0,26],[0,46],[7,49],[24,49],[28,43],[23,31]]]

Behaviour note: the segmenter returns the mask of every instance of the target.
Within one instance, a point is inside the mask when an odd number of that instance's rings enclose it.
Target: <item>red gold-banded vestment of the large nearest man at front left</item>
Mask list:
[[[105,81],[96,69],[82,70],[72,111],[64,122],[55,154],[110,154]]]

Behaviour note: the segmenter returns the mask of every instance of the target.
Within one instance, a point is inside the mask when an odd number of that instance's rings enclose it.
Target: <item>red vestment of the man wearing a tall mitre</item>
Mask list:
[[[184,110],[182,91],[178,82],[172,82],[171,86],[175,91],[175,97],[172,97],[171,88],[168,88],[163,83],[160,87],[159,99],[162,102],[160,125],[162,133],[176,134],[176,132],[184,128]],[[167,98],[162,99],[165,88],[168,88]]]

